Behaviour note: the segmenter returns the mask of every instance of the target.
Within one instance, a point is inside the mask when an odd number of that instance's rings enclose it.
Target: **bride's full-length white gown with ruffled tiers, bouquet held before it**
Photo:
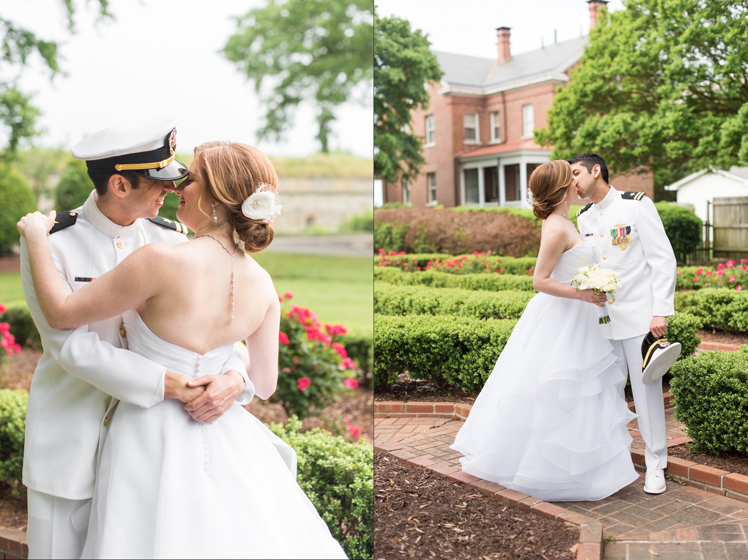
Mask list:
[[[570,283],[592,259],[583,241],[551,278]],[[530,300],[453,443],[465,473],[545,501],[602,499],[639,478],[626,376],[598,319],[584,301]]]

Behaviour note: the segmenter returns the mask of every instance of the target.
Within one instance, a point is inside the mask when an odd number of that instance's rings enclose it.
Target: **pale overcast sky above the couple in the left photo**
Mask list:
[[[179,119],[177,149],[191,152],[211,140],[242,141],[271,156],[319,150],[313,107],[302,105],[281,144],[257,144],[264,108],[253,86],[218,51],[240,16],[263,0],[111,0],[115,21],[96,20],[98,1],[76,0],[77,33],[65,25],[62,0],[0,0],[0,16],[58,40],[67,76],[50,82],[36,58],[19,79],[33,91],[46,129],[36,143],[70,148],[85,135],[131,120]],[[369,90],[371,92],[371,90]],[[361,92],[371,99],[373,93]],[[372,157],[372,105],[342,105],[331,147]]]

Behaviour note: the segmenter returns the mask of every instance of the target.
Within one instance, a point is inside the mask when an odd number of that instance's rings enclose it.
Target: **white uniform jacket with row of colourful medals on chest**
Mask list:
[[[675,254],[652,200],[610,187],[599,203],[580,209],[577,225],[594,248],[595,262],[613,268],[621,282],[616,301],[605,306],[607,338],[644,335],[653,316],[675,313]]]

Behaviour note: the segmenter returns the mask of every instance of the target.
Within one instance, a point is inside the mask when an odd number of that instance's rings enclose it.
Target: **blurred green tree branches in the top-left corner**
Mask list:
[[[67,28],[75,30],[73,0],[62,0],[67,10]],[[108,0],[99,0],[101,17],[111,17],[108,13]],[[58,65],[58,44],[37,37],[28,29],[19,27],[9,19],[0,17],[0,71],[4,76],[11,69],[25,67],[28,57],[36,52],[51,72],[51,77],[60,72]],[[19,143],[38,134],[36,120],[39,109],[31,105],[31,95],[16,88],[12,80],[0,80],[0,125],[7,132],[7,146],[0,150],[0,160],[10,161],[15,158]]]

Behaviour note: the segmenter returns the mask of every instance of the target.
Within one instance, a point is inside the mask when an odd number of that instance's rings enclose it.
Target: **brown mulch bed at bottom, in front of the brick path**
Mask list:
[[[374,455],[374,558],[571,559],[579,531]],[[573,550],[573,551],[572,551]]]

